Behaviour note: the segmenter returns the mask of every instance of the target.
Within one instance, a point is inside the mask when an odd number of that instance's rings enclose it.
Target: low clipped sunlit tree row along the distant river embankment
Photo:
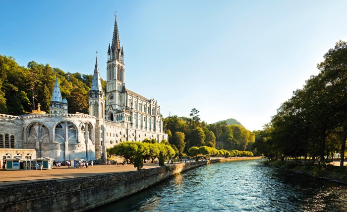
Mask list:
[[[216,149],[210,146],[193,146],[188,149],[190,156],[204,155],[209,157],[213,156],[222,156],[222,157],[233,157],[233,156],[249,156],[253,157],[253,153],[251,151],[239,151],[239,150],[225,150],[225,149]]]

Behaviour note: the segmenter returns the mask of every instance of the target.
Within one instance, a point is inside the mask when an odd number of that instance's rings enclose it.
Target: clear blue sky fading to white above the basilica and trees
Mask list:
[[[164,117],[237,119],[260,130],[347,41],[346,0],[0,0],[0,54],[106,79],[117,11],[125,85]]]

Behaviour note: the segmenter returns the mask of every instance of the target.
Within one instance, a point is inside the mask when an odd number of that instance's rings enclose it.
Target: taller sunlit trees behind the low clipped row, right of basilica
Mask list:
[[[218,124],[200,122],[196,108],[191,110],[190,118],[169,116],[163,122],[169,142],[177,147],[179,154],[192,146],[250,151],[254,143],[255,134],[243,126],[228,125],[226,121]]]

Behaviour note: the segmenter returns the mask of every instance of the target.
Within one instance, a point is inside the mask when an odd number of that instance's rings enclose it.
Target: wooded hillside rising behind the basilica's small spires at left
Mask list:
[[[88,92],[93,75],[65,73],[49,64],[29,62],[19,66],[14,58],[0,55],[0,113],[21,115],[36,110],[49,112],[54,83],[58,76],[60,91],[68,101],[68,112],[88,113]],[[102,80],[103,88],[106,83]],[[35,105],[34,105],[35,104]]]

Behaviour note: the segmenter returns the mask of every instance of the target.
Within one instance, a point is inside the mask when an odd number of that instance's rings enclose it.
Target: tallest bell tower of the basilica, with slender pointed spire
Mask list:
[[[125,92],[122,92],[125,90],[123,89],[125,86],[124,50],[119,42],[117,15],[115,15],[112,44],[109,44],[107,55],[106,119],[116,121],[116,111],[123,109],[126,105]]]

